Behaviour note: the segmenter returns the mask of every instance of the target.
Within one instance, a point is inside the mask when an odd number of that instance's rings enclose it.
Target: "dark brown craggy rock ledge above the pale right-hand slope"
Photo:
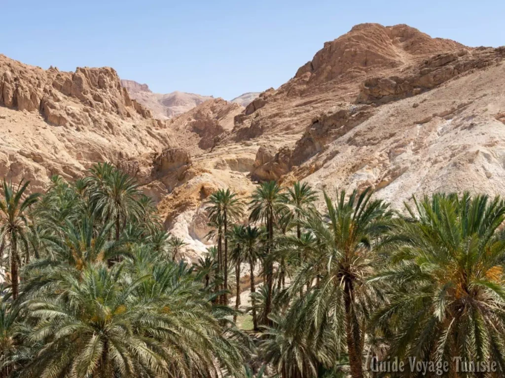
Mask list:
[[[357,102],[383,103],[415,96],[470,70],[495,66],[504,58],[504,47],[460,49],[435,55],[410,74],[367,79],[360,88]]]

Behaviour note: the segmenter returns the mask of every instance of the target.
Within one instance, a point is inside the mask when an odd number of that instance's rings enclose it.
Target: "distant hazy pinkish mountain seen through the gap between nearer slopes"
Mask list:
[[[139,84],[133,80],[121,80],[121,86],[128,90],[131,98],[150,109],[160,119],[182,114],[213,98],[178,91],[167,94],[153,93],[147,84]]]

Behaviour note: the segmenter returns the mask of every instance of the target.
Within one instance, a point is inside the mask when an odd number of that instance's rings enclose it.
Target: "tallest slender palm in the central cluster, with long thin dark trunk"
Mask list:
[[[273,262],[273,240],[274,240],[274,222],[277,216],[285,209],[282,188],[275,182],[264,182],[252,194],[249,203],[249,220],[263,221],[267,225],[267,253],[265,257],[264,269],[267,278],[269,296],[265,306],[264,319],[268,322],[268,315],[272,306],[272,287],[274,281],[274,262]]]

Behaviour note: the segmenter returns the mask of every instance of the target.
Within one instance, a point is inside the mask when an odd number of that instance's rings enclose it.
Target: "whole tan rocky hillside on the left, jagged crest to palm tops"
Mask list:
[[[0,105],[0,175],[30,180],[32,191],[54,174],[72,180],[93,163],[138,160],[176,144],[111,68],[60,72],[0,55]]]

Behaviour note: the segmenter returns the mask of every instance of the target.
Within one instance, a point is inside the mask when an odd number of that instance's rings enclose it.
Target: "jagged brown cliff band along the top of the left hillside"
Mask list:
[[[84,106],[85,111],[69,107],[65,97]],[[143,118],[151,118],[148,109],[130,99],[112,68],[77,68],[75,73],[54,68],[44,71],[4,55],[0,55],[0,104],[40,111],[45,120],[58,126],[90,127],[103,123],[107,127],[107,120],[100,114],[126,119],[136,112]]]

